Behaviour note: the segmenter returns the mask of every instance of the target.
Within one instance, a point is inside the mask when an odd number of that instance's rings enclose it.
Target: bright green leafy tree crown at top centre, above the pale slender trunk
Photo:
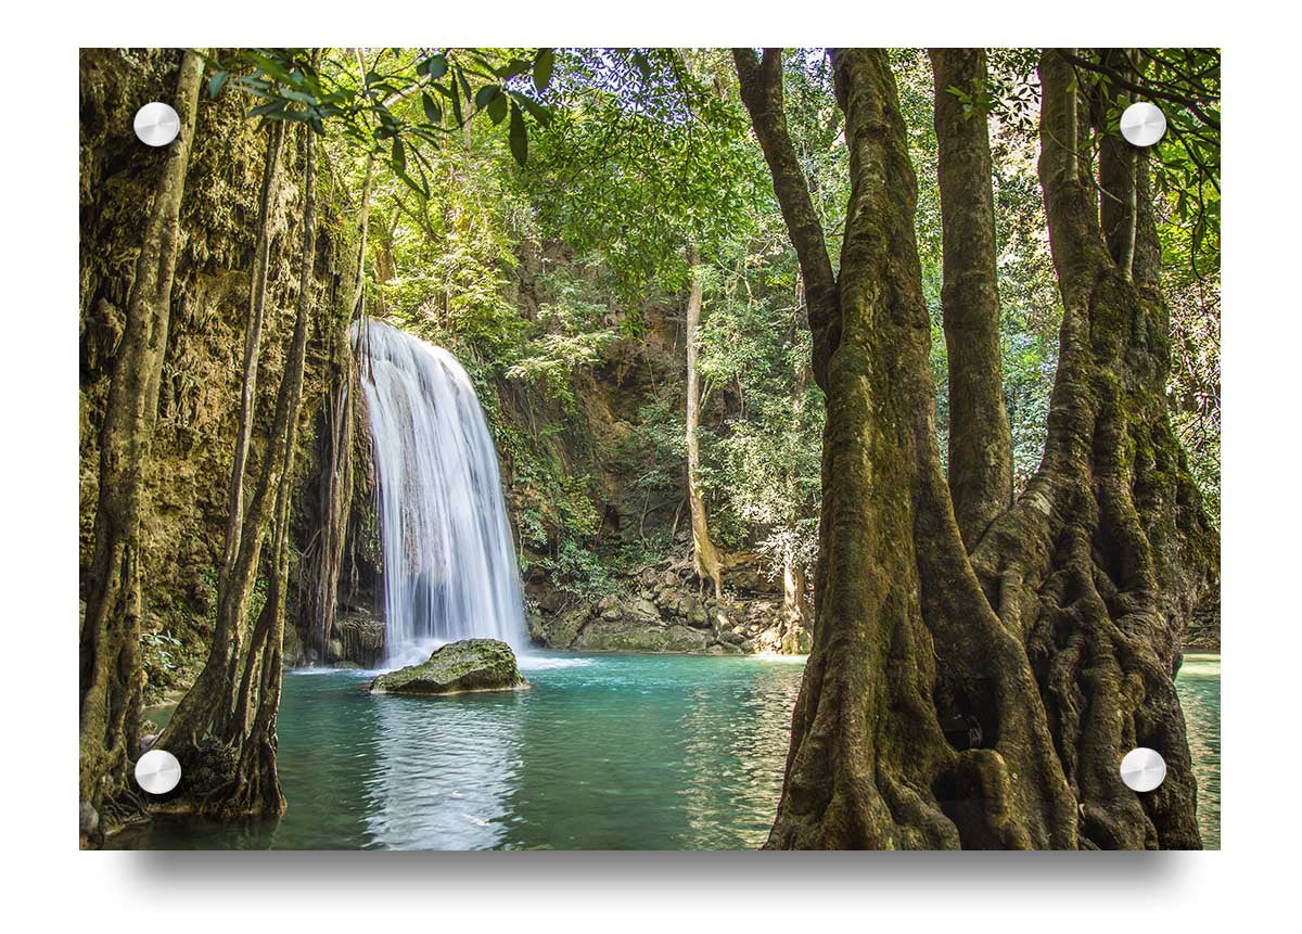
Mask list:
[[[527,185],[544,230],[596,254],[625,297],[680,289],[767,195],[724,53],[566,49]]]

